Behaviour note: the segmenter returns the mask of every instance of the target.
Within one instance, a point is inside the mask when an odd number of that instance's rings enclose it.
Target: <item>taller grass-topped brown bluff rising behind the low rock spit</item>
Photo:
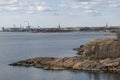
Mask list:
[[[119,45],[116,39],[95,39],[75,48],[79,55],[91,59],[119,58]]]

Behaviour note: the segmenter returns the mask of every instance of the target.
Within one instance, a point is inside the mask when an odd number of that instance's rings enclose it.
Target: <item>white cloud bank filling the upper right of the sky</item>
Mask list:
[[[82,13],[100,14],[102,12],[99,9],[120,7],[120,0],[63,0],[61,5]]]

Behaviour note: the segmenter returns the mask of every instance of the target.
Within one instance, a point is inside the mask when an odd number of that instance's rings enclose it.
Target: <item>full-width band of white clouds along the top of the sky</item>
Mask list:
[[[60,3],[44,0],[0,0],[1,12],[24,12],[24,13],[40,13],[50,12],[54,13],[70,13],[73,11],[82,12],[86,14],[100,14],[104,8],[119,8],[120,0],[61,0]],[[54,7],[53,7],[54,4]],[[51,6],[52,7],[51,7]],[[59,5],[59,6],[58,6]],[[66,9],[66,11],[65,11]]]

